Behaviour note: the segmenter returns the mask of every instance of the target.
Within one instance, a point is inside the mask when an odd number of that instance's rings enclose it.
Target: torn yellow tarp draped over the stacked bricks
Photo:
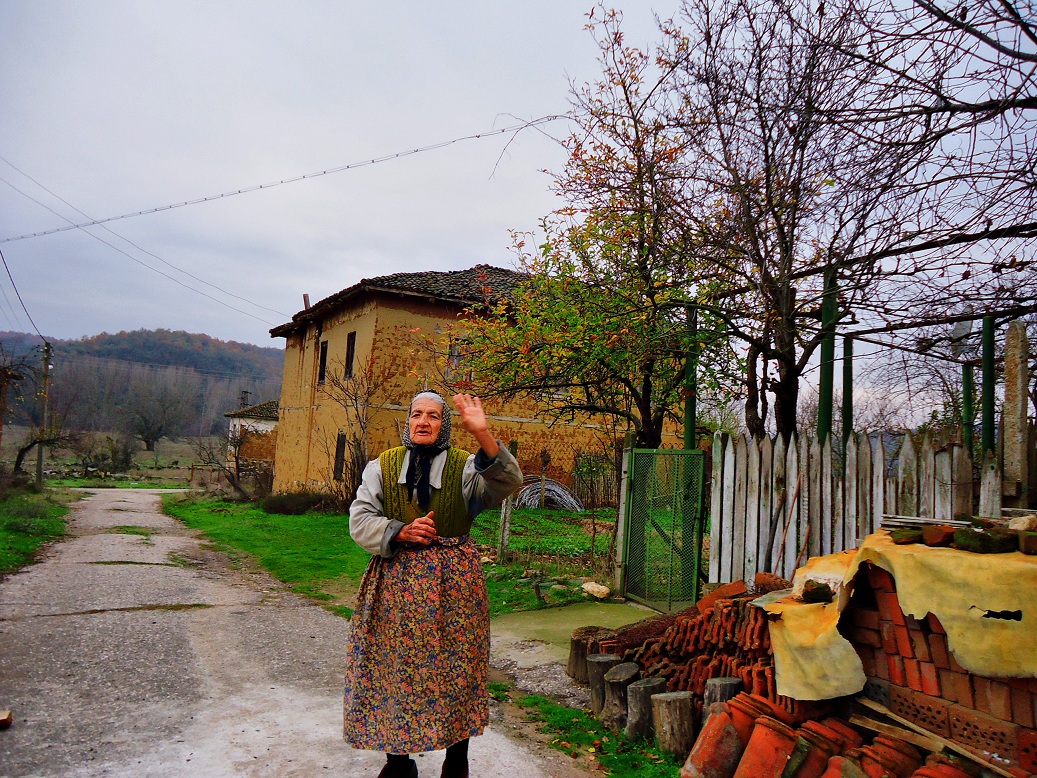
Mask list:
[[[861,660],[837,629],[863,562],[893,575],[905,614],[922,619],[932,613],[940,619],[954,659],[970,672],[1037,677],[1037,557],[897,546],[879,531],[856,552],[808,562],[822,578],[842,572],[844,588],[836,602],[760,601],[767,613],[779,616],[770,622],[779,694],[829,699],[864,688]],[[1005,617],[1015,615],[1018,620]]]

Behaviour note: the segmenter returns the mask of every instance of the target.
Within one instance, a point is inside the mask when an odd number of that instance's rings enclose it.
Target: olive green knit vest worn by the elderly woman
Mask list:
[[[386,517],[410,524],[419,516],[424,516],[407,492],[407,484],[399,482],[399,474],[403,469],[405,446],[390,448],[379,456],[382,466],[382,495],[385,502]],[[442,489],[433,489],[428,509],[432,511],[436,522],[436,533],[440,537],[458,537],[467,534],[472,528],[472,518],[468,515],[468,504],[461,490],[461,475],[465,464],[471,456],[460,448],[447,450],[447,464],[443,468]]]

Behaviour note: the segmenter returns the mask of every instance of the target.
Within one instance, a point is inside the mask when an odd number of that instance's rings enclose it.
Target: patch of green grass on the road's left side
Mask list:
[[[0,576],[25,566],[40,546],[64,534],[68,507],[56,499],[32,489],[0,495]]]

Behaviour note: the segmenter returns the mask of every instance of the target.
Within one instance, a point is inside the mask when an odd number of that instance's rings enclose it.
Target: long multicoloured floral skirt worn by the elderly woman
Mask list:
[[[489,720],[489,599],[468,535],[371,558],[346,642],[343,738],[436,751]]]

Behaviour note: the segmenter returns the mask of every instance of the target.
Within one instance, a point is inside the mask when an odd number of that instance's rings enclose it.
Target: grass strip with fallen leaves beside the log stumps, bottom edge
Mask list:
[[[498,689],[494,696],[501,699],[498,696],[501,694],[506,697],[507,689]],[[612,778],[672,778],[680,770],[675,757],[647,741],[628,741],[622,732],[606,729],[586,711],[559,705],[537,695],[521,695],[513,701],[526,708],[529,721],[536,722],[542,732],[554,735],[551,741],[554,748],[584,765],[599,763]]]

